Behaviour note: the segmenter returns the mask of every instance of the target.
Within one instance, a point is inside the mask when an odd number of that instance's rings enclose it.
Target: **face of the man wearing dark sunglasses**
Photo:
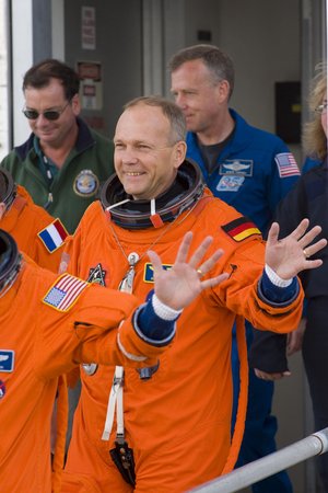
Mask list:
[[[68,102],[58,79],[51,79],[49,85],[42,89],[27,87],[24,95],[26,110],[38,113],[38,117],[28,119],[28,124],[32,131],[40,139],[40,144],[49,147],[62,146],[77,125],[75,116],[80,113],[78,95]],[[47,119],[43,113],[49,110],[61,112],[59,118]]]

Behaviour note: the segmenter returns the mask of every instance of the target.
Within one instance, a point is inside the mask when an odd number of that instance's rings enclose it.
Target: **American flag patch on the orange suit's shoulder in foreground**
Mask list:
[[[59,311],[68,311],[78,300],[81,293],[90,286],[91,284],[86,283],[86,280],[69,274],[62,274],[50,287],[43,302]]]

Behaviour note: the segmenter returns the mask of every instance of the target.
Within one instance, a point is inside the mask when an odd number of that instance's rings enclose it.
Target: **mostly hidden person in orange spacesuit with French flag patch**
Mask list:
[[[37,206],[10,173],[0,169],[0,228],[13,236],[19,249],[42,267],[58,272],[67,231]]]

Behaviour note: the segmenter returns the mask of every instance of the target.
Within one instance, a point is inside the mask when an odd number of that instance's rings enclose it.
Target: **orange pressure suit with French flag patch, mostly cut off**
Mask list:
[[[62,244],[49,251],[38,233],[54,221],[43,208],[34,204],[26,190],[16,185],[16,196],[11,208],[0,220],[0,228],[9,232],[16,241],[19,250],[26,253],[42,267],[58,272],[62,254]]]

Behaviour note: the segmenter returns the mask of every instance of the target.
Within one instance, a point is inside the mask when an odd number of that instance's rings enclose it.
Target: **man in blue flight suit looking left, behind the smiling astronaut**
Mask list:
[[[187,157],[198,163],[212,193],[248,216],[266,237],[277,204],[300,176],[293,154],[279,137],[251,127],[229,107],[234,66],[221,49],[213,45],[184,48],[172,57],[169,71],[172,93],[187,121]],[[250,347],[253,326],[248,322],[246,326]],[[235,334],[232,358],[235,419],[239,391]],[[276,450],[272,398],[273,382],[260,380],[250,369],[245,434],[237,466]],[[254,493],[292,491],[285,471],[253,486]]]

